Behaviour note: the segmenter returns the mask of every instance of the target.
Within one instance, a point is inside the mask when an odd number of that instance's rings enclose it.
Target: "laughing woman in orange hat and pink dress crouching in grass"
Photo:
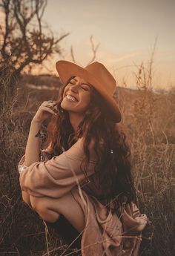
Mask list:
[[[82,68],[59,61],[56,69],[59,99],[39,107],[19,162],[23,200],[65,240],[79,235],[75,246],[84,256],[138,255],[147,217],[134,203],[116,81],[99,62]],[[50,115],[41,150],[39,130]]]

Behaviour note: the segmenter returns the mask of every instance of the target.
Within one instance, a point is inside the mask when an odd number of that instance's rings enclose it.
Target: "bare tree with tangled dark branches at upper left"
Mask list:
[[[59,42],[69,33],[62,34],[58,39],[49,28],[47,31],[50,30],[50,35],[42,31],[42,17],[47,0],[1,0],[1,2],[6,13],[6,30],[4,33],[1,32],[4,42],[0,69],[3,69],[4,65],[9,65],[13,73],[19,74],[30,63],[41,64],[53,53],[61,53]],[[11,21],[13,24],[10,23]]]

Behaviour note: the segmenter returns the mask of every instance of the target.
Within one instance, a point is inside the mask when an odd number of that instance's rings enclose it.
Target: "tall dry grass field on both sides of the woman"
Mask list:
[[[151,66],[140,65],[138,90],[119,88],[116,99],[131,145],[139,208],[150,221],[143,233],[141,255],[171,256],[175,245],[175,93],[153,93],[152,83]],[[36,109],[42,101],[56,99],[57,92],[25,88],[10,76],[10,70],[1,76],[0,84],[0,255],[61,255],[65,245],[48,237],[42,220],[22,202],[17,171]]]

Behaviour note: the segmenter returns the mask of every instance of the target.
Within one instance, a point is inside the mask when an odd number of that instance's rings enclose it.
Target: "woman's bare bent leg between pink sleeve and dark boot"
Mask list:
[[[49,223],[56,222],[62,214],[78,232],[85,229],[85,214],[71,192],[57,199],[30,196],[30,202],[39,216]]]

